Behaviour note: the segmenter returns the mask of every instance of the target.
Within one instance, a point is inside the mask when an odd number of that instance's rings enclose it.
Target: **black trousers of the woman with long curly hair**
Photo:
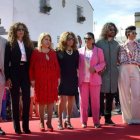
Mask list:
[[[18,76],[13,70],[13,75],[11,76],[12,88],[11,88],[11,99],[12,99],[12,116],[14,129],[20,130],[20,90],[22,92],[22,128],[23,131],[29,130],[29,110],[30,110],[30,81],[28,69],[25,65],[20,66],[17,72]]]

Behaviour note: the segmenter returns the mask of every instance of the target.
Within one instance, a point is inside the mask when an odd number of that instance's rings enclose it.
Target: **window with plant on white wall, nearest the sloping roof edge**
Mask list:
[[[83,7],[77,6],[77,22],[83,23],[86,18],[83,16]]]

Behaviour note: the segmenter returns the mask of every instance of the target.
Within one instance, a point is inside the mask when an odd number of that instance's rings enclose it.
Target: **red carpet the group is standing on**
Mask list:
[[[102,128],[93,128],[92,118],[88,120],[88,127],[81,128],[79,118],[72,118],[74,130],[57,130],[57,119],[53,119],[54,132],[40,132],[39,120],[30,121],[32,134],[16,135],[12,122],[0,123],[6,136],[0,136],[0,140],[140,140],[140,125],[123,125],[120,115],[113,116],[116,126],[105,126],[101,119]]]

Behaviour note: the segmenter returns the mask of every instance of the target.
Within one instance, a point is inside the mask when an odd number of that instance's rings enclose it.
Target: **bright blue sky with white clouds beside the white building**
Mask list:
[[[140,0],[89,0],[93,6],[93,32],[98,38],[106,22],[114,22],[124,36],[127,26],[135,25],[135,12],[140,12]]]

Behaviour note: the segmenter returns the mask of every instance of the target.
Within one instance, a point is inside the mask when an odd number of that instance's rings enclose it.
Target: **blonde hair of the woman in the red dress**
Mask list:
[[[49,34],[49,33],[41,33],[41,34],[39,35],[39,38],[38,38],[38,45],[37,45],[37,49],[38,49],[39,51],[41,51],[42,40],[43,40],[46,36],[50,38],[50,41],[51,41],[50,49],[53,50],[52,38],[51,38],[50,34]]]

